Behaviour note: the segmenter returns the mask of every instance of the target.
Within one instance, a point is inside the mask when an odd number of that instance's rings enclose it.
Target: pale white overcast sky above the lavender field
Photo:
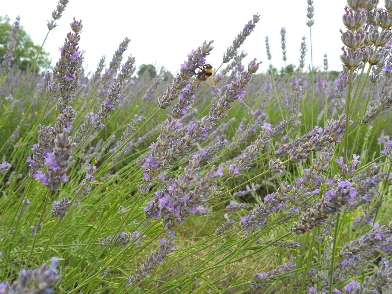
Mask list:
[[[48,31],[47,20],[57,4],[56,0],[14,0],[3,1],[1,15],[8,15],[11,22],[21,16],[20,24],[30,34],[34,43],[42,44]],[[339,55],[343,46],[339,29],[344,29],[342,15],[346,1],[314,0],[314,20],[312,26],[313,65],[323,65],[323,55],[328,54],[330,70],[341,70]],[[251,59],[263,60],[261,71],[267,71],[269,62],[265,50],[265,36],[269,37],[272,65],[280,69],[281,59],[280,29],[286,28],[287,64],[299,65],[301,37],[306,36],[308,52],[305,64],[310,64],[310,33],[306,26],[306,0],[207,0],[199,1],[122,1],[122,0],[70,0],[60,20],[44,44],[55,63],[71,31],[69,23],[75,16],[82,20],[83,29],[80,48],[85,50],[84,67],[87,72],[95,71],[102,57],[109,65],[118,44],[128,36],[131,39],[125,58],[132,54],[136,66],[156,64],[165,66],[173,74],[204,40],[214,40],[207,62],[217,68],[223,53],[232,44],[234,37],[242,31],[253,14],[261,15],[254,31],[247,37],[239,50]],[[124,58],[124,60],[125,60]]]

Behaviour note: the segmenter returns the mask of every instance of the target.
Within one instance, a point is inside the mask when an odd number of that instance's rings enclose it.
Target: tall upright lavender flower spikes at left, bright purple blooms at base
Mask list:
[[[75,111],[70,103],[74,99],[76,87],[82,72],[82,62],[84,51],[79,51],[80,31],[82,21],[71,23],[73,33],[67,34],[67,39],[63,47],[60,47],[61,57],[53,69],[51,80],[47,80],[45,92],[47,97],[59,97],[56,110],[60,113],[58,120],[53,127],[39,125],[38,144],[34,144],[33,158],[28,157],[30,163],[29,175],[35,180],[39,180],[49,191],[60,188],[62,182],[68,181],[66,174],[69,160],[72,158],[72,139],[67,136],[72,128]],[[47,172],[42,169],[47,165]]]

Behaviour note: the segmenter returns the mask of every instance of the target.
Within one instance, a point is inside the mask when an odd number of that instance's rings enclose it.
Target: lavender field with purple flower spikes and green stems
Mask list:
[[[51,70],[21,70],[16,19],[0,68],[0,294],[392,293],[392,0],[341,15],[341,72],[327,55],[308,67],[319,44],[305,37],[295,70],[274,69],[268,37],[269,70],[245,64],[255,14],[214,87],[198,81],[209,40],[170,73],[138,71],[125,38],[88,73],[75,18]]]

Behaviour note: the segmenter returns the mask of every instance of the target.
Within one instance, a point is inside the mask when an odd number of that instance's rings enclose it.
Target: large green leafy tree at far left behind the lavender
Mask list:
[[[11,26],[11,19],[8,15],[5,17],[0,16],[0,64],[3,62],[3,56],[7,51],[7,43],[11,37]],[[40,47],[40,45],[34,44],[30,35],[24,31],[22,26],[20,26],[16,46],[12,53],[14,59],[11,62],[11,67],[16,65],[22,71],[25,71],[27,67],[31,67]],[[49,53],[46,53],[42,49],[37,58],[36,64],[34,65],[34,71],[38,72],[47,69],[49,68],[49,65]]]

